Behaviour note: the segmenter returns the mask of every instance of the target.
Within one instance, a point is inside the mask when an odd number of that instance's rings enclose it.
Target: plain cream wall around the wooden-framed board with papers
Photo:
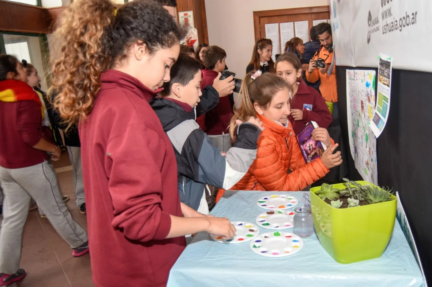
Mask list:
[[[329,5],[329,0],[205,0],[209,44],[226,51],[231,72],[243,78],[254,47],[254,11]]]

